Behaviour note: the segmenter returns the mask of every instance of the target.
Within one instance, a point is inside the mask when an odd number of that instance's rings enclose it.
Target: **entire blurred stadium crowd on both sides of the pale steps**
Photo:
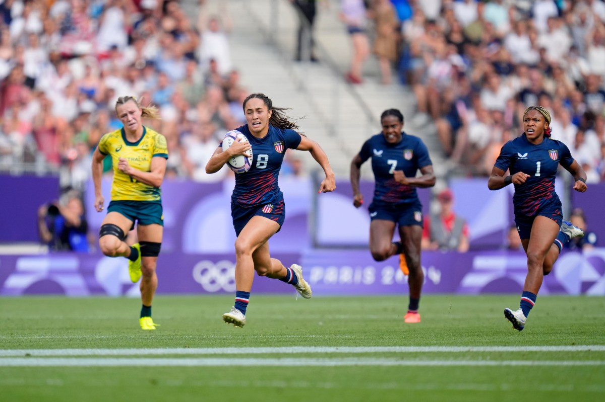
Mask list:
[[[369,21],[388,14],[384,1],[364,3]],[[522,131],[520,113],[540,104],[587,182],[605,180],[605,2],[390,3],[397,69],[417,97],[412,120],[434,122],[459,170],[489,174]],[[167,177],[222,180],[227,171],[204,166],[222,133],[243,124],[248,93],[228,14],[209,16],[204,0],[199,10],[192,21],[177,0],[0,0],[0,171],[59,171],[62,187],[83,190],[97,141],[120,127],[117,97],[132,94],[160,107],[149,124],[168,140]]]

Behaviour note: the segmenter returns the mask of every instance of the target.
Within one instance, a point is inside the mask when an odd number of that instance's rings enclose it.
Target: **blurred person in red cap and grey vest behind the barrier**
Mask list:
[[[468,251],[468,224],[452,209],[454,203],[452,191],[446,188],[437,195],[437,200],[440,206],[439,214],[431,214],[430,217],[425,218],[422,249]]]

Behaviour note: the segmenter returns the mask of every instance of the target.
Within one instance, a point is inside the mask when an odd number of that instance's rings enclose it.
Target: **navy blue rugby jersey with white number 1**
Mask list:
[[[521,171],[529,174],[523,184],[515,184],[512,203],[515,214],[533,216],[542,205],[561,201],[555,193],[555,176],[558,165],[564,168],[574,163],[567,145],[556,139],[545,138],[541,144],[532,144],[525,133],[506,142],[494,166],[511,174]],[[553,199],[555,198],[555,199]]]

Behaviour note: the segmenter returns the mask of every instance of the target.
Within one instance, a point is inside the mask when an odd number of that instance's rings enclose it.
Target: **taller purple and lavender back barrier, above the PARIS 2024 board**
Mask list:
[[[280,179],[286,200],[286,222],[272,240],[272,249],[300,252],[312,248],[358,248],[368,244],[370,205],[374,184],[361,182],[364,205],[356,209],[350,183],[338,180],[334,193],[317,194],[319,185],[312,179]],[[227,253],[233,249],[235,233],[231,222],[231,192],[234,180],[197,183],[166,180],[162,185],[165,235],[163,252],[186,254]],[[489,191],[486,179],[450,180],[454,193],[454,211],[469,225],[471,249],[499,249],[513,222],[512,186]],[[0,243],[38,241],[36,223],[40,205],[56,200],[56,177],[0,176]],[[92,189],[92,183],[87,188]],[[111,199],[111,177],[103,179],[106,203]],[[563,201],[563,210],[581,207],[586,212],[589,230],[605,239],[605,183],[589,185],[586,193],[571,191],[557,181],[555,190]],[[430,189],[419,189],[423,212],[430,211]],[[97,234],[106,212],[94,211],[93,191],[85,192],[90,232]]]

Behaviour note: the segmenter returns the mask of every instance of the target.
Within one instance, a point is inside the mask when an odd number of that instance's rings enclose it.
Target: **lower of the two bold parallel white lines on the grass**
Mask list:
[[[603,360],[397,360],[379,358],[342,359],[174,359],[174,358],[77,358],[77,357],[5,357],[0,367],[132,367],[132,366],[605,366]]]

